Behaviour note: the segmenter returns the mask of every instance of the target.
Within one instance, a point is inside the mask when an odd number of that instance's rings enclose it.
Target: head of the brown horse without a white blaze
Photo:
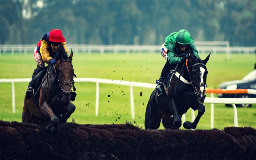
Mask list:
[[[66,53],[65,53],[66,54]],[[58,79],[59,85],[63,90],[62,95],[66,101],[71,99],[72,95],[72,86],[73,86],[73,77],[74,77],[74,68],[72,65],[73,51],[71,50],[70,56],[65,58],[60,58],[55,65],[56,77]]]

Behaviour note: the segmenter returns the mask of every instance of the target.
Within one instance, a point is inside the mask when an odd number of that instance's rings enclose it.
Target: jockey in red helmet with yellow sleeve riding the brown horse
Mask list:
[[[62,31],[59,29],[51,30],[38,42],[37,48],[34,50],[34,59],[37,62],[37,68],[33,72],[32,80],[29,82],[28,89],[26,91],[27,99],[30,99],[34,95],[36,81],[33,81],[33,79],[42,70],[42,68],[45,67],[45,63],[48,65],[56,64],[54,56],[60,48],[60,45],[63,45],[66,53],[68,53],[66,40],[62,36]]]

